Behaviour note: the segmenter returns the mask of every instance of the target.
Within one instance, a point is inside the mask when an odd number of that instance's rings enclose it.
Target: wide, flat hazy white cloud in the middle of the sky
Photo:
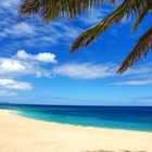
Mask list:
[[[96,79],[107,76],[113,76],[113,65],[96,65],[89,63],[69,63],[56,66],[53,68],[53,73],[61,76],[78,79]]]

